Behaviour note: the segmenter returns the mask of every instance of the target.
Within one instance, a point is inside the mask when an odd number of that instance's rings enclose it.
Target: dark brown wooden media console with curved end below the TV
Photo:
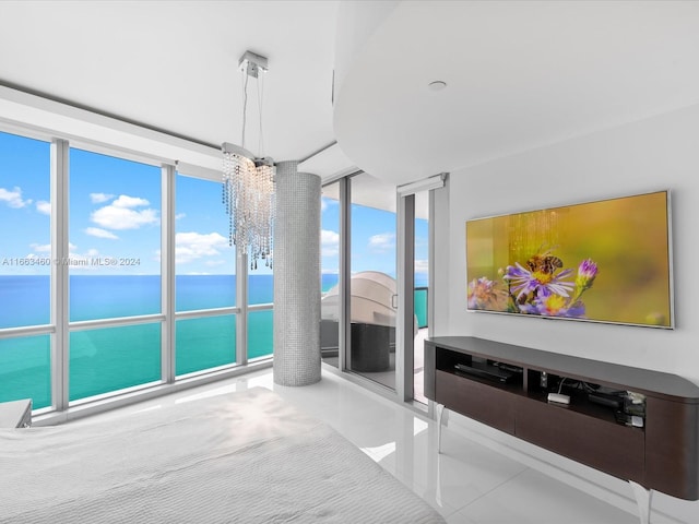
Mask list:
[[[457,365],[511,371],[511,379],[459,372]],[[643,427],[619,424],[615,409],[548,383],[595,384],[645,395]],[[564,382],[566,384],[566,382]],[[466,336],[425,342],[425,395],[446,408],[580,463],[686,500],[699,500],[699,386],[682,377]]]

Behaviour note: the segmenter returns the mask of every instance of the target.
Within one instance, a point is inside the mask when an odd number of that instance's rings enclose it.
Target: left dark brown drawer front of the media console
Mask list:
[[[514,434],[514,394],[490,384],[437,370],[436,402],[496,429]]]

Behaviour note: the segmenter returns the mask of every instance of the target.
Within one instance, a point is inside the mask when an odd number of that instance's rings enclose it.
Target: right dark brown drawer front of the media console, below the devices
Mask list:
[[[644,483],[645,438],[629,428],[533,398],[517,402],[516,434],[625,480]]]

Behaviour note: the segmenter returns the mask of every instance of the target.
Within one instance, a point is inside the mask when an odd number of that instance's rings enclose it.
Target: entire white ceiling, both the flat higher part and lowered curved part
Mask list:
[[[364,32],[333,108],[339,21]],[[336,140],[324,178],[403,183],[699,104],[699,2],[0,1],[0,83],[212,147],[240,144],[248,49],[270,71],[246,146]]]

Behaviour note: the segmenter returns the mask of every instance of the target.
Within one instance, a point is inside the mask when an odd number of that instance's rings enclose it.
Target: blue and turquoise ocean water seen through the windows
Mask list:
[[[249,303],[273,301],[272,275],[249,277]],[[322,275],[321,289],[337,283],[337,275]],[[420,325],[426,293],[415,291]],[[176,277],[177,311],[235,306],[234,275],[180,275]],[[0,275],[0,329],[50,323],[48,276]],[[157,275],[70,277],[71,322],[161,312]],[[273,311],[248,315],[248,358],[272,354]],[[225,366],[236,361],[234,314],[176,322],[176,374]],[[69,334],[69,396],[84,398],[123,388],[156,382],[161,378],[159,322],[129,326],[72,331]],[[33,398],[34,407],[51,404],[50,336],[0,338],[0,402]]]

